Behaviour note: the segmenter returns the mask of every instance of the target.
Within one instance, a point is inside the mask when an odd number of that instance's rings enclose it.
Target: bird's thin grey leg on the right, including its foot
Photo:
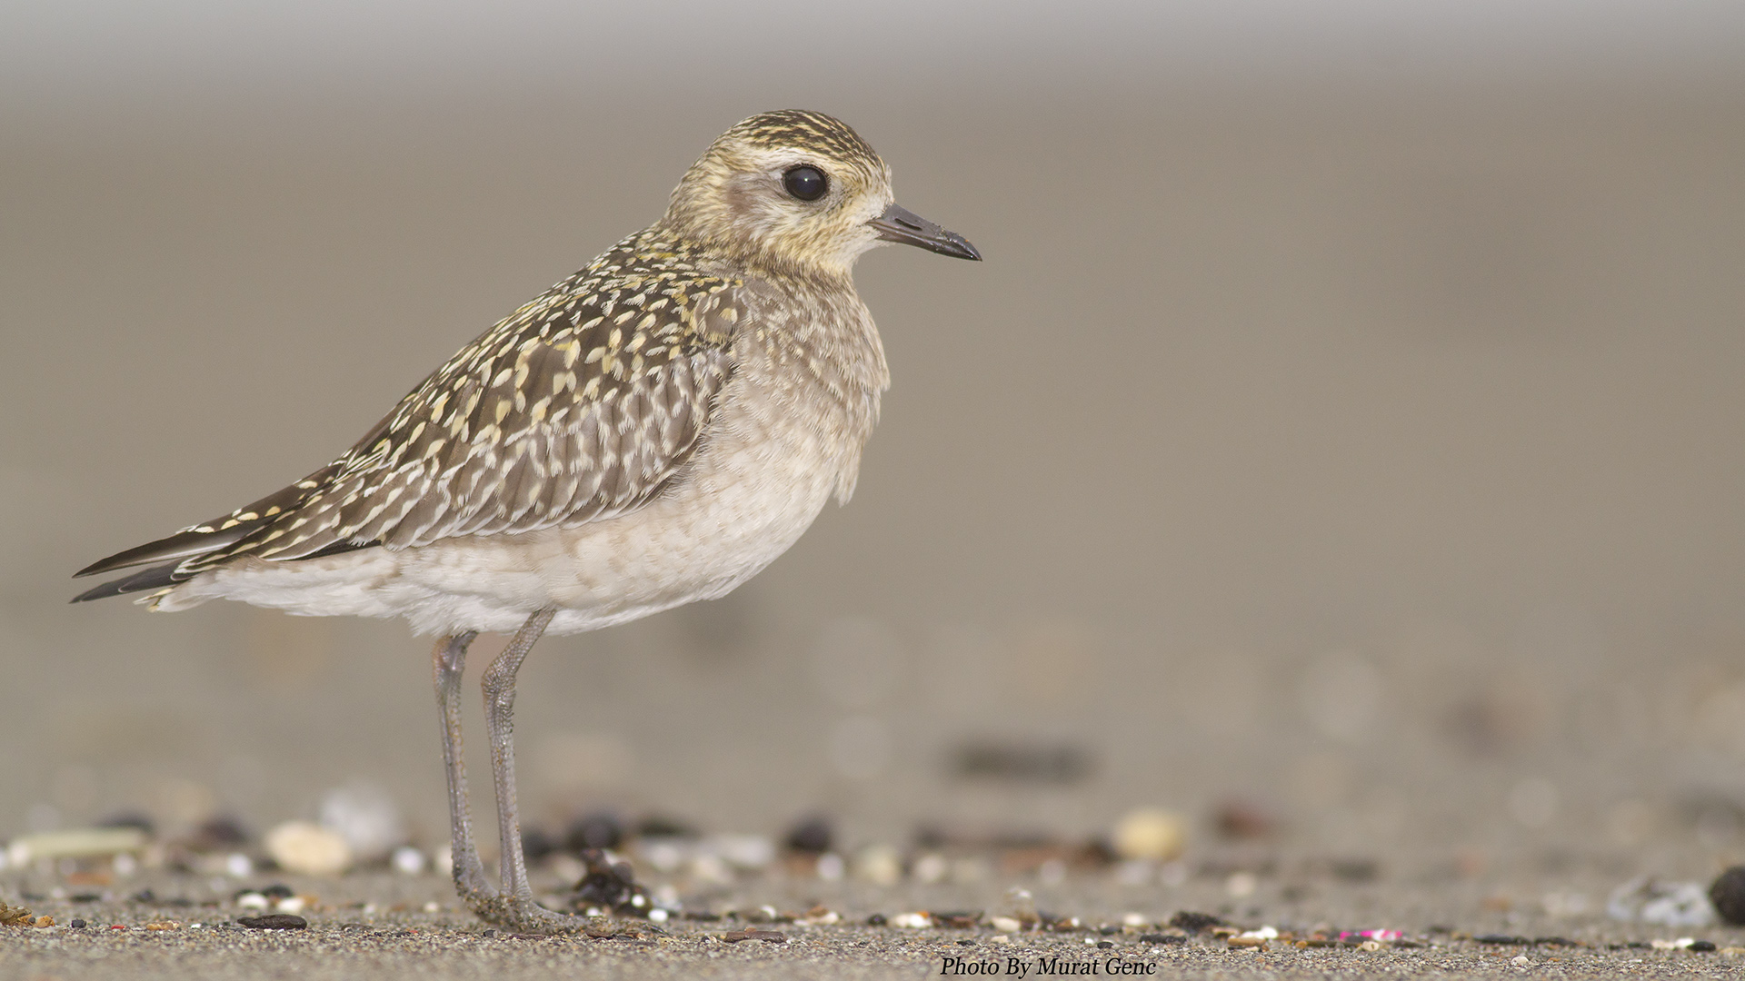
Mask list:
[[[485,726],[490,731],[490,773],[497,784],[497,833],[503,834],[503,857],[499,873],[503,880],[499,901],[494,904],[496,920],[517,930],[571,930],[585,922],[576,916],[553,913],[534,902],[532,885],[527,882],[527,861],[522,855],[522,822],[515,805],[515,672],[520,670],[527,651],[544,634],[555,609],[541,609],[527,618],[527,623],[515,632],[515,639],[504,648],[497,660],[490,662],[485,672]]]

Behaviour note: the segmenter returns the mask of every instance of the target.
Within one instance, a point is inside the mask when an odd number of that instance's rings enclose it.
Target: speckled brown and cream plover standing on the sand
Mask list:
[[[900,208],[885,161],[810,110],[752,115],[684,173],[665,215],[455,353],[309,477],[77,573],[138,569],[73,602],[154,611],[232,599],[307,616],[401,616],[435,635],[454,883],[485,922],[567,932],[539,906],[515,792],[515,679],[544,634],[715,599],[831,497],[848,503],[890,372],[855,293],[879,244],[981,260]],[[461,676],[482,679],[501,836],[473,840]]]

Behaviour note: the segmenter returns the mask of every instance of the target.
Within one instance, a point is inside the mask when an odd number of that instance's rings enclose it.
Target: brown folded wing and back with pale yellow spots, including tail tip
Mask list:
[[[740,283],[644,232],[464,347],[321,471],[80,574],[169,562],[173,583],[243,557],[408,548],[626,513],[700,445],[742,319]],[[134,588],[171,585],[155,580]],[[106,588],[92,593],[113,595]]]

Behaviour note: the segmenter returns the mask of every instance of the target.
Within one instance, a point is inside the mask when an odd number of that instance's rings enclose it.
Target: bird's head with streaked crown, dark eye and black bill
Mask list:
[[[883,243],[981,258],[892,199],[890,168],[848,124],[820,112],[754,115],[715,140],[672,192],[663,222],[749,264],[848,276]]]

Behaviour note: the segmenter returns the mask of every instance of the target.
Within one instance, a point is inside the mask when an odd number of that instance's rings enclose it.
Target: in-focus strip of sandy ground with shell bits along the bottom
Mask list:
[[[1579,861],[1557,873],[1515,878],[1515,890],[1497,880],[1462,878],[1447,868],[1424,866],[1382,873],[1373,882],[1349,882],[1314,869],[1304,857],[1270,855],[1255,890],[1232,899],[1228,882],[1195,875],[1178,887],[1120,885],[1112,873],[1075,873],[1056,885],[1030,878],[981,883],[876,887],[860,882],[818,882],[777,869],[742,878],[733,887],[688,897],[688,909],[719,920],[674,920],[665,932],[635,927],[639,937],[520,937],[490,930],[454,899],[435,875],[359,873],[344,878],[206,878],[147,873],[103,892],[101,901],[33,901],[37,913],[59,925],[0,930],[0,976],[5,978],[407,978],[429,979],[572,978],[921,978],[993,971],[1002,976],[1042,976],[1057,965],[1094,965],[1096,976],[1509,976],[1546,974],[1600,978],[1628,972],[1640,978],[1736,976],[1745,929],[1670,929],[1609,920],[1602,908],[1546,913],[1539,902],[1513,901],[1532,887],[1567,894],[1611,883],[1605,861]],[[1410,859],[1405,859],[1410,861]],[[1208,866],[1209,868],[1209,866]],[[1396,866],[1398,868],[1398,866]],[[1206,869],[1202,869],[1206,871]],[[243,909],[234,894],[244,885],[284,882],[312,899],[302,911],[309,927],[257,930],[236,923],[260,913]],[[54,890],[54,876],[10,876],[0,892]],[[558,888],[544,875],[539,885]],[[988,920],[1007,902],[1007,888],[1035,890],[1045,915],[1078,916],[1080,929],[1002,936]],[[73,887],[77,888],[77,887]],[[150,888],[152,899],[129,899]],[[134,892],[127,892],[134,890]],[[68,895],[63,888],[61,895]],[[1600,895],[1604,906],[1604,894]],[[770,906],[778,922],[756,922]],[[808,923],[818,906],[838,913],[836,923]],[[866,925],[874,913],[895,920],[904,911],[975,911],[981,923],[965,929]],[[1265,950],[1232,948],[1201,932],[1185,941],[1167,922],[1180,911],[1209,911],[1237,927],[1274,925],[1297,936],[1340,929],[1394,929],[1403,937],[1380,950],[1297,948],[1290,939]],[[1124,920],[1143,918],[1145,925]],[[797,922],[780,922],[797,915]],[[73,918],[86,922],[72,929]],[[173,929],[150,929],[174,923]],[[633,923],[633,922],[630,922]],[[724,939],[736,930],[773,930],[782,941]],[[1537,943],[1492,943],[1495,936]],[[1002,939],[1003,937],[1003,939]],[[1475,939],[1478,937],[1478,939]],[[1694,937],[1717,950],[1656,950],[1653,941]],[[1016,960],[1014,960],[1016,958]],[[993,967],[981,967],[981,965]],[[1016,967],[1014,967],[1016,965]],[[1091,971],[1091,967],[1075,967]]]

